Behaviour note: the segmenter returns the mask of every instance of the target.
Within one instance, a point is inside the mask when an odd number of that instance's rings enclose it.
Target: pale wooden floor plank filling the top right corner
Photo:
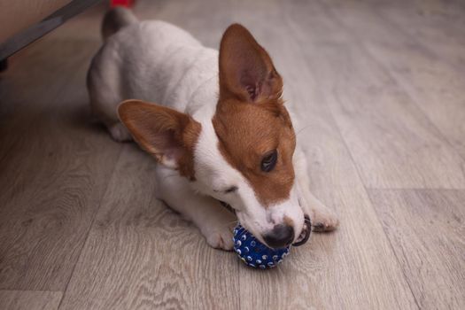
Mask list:
[[[344,27],[351,29],[356,40],[384,67],[399,89],[405,90],[411,103],[446,138],[445,142],[458,151],[462,160],[457,173],[463,174],[465,75],[460,70],[460,57],[465,55],[461,52],[465,35],[454,30],[456,19],[449,20],[453,18],[452,13],[435,15],[433,19],[419,16],[408,4],[404,6],[405,10],[397,13],[393,11],[399,8],[396,5],[375,9],[363,3],[331,5],[330,11]],[[391,19],[399,25],[394,25]],[[454,35],[451,37],[450,33]],[[457,51],[458,55],[445,54],[441,50],[445,47]]]

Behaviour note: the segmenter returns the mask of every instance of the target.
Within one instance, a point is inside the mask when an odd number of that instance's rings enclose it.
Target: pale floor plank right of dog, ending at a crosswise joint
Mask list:
[[[303,5],[293,13],[305,12]],[[384,67],[369,57],[344,25],[337,24],[340,14],[329,14],[314,3],[307,5],[326,14],[327,22],[337,29],[334,31],[345,32],[350,39],[331,40],[330,32],[307,36],[305,29],[311,28],[311,21],[298,19],[302,21],[295,23],[307,66],[326,84],[331,112],[364,184],[374,188],[463,188],[461,157]]]

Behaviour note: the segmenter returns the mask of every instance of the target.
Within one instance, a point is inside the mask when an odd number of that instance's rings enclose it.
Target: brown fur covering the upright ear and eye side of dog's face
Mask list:
[[[267,51],[244,27],[229,27],[221,40],[220,99],[213,128],[221,154],[251,183],[263,205],[289,198],[295,176],[296,137],[282,88]],[[273,150],[278,153],[275,169],[261,171],[261,160]]]

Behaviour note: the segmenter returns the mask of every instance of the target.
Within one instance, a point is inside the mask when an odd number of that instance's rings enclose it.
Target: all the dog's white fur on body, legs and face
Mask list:
[[[131,139],[117,114],[117,106],[128,98],[185,112],[202,125],[194,156],[196,181],[174,175],[176,163],[165,160],[156,169],[157,195],[193,221],[213,247],[233,247],[236,221],[218,200],[232,205],[239,221],[262,242],[261,235],[283,222],[284,216],[292,220],[296,238],[304,213],[314,224],[335,228],[334,213],[308,190],[306,158],[298,146],[290,198],[268,207],[260,204],[249,182],[223,158],[212,124],[219,93],[218,57],[217,50],[166,22],[134,23],[108,37],[93,59],[88,76],[90,103],[117,141]],[[225,193],[231,186],[238,190]]]

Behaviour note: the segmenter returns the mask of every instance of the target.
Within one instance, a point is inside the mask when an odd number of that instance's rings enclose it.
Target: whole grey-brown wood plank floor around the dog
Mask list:
[[[209,248],[154,197],[154,160],[90,120],[103,12],[0,75],[1,309],[465,308],[463,2],[138,2],[213,47],[243,23],[284,77],[341,226],[266,272]]]

